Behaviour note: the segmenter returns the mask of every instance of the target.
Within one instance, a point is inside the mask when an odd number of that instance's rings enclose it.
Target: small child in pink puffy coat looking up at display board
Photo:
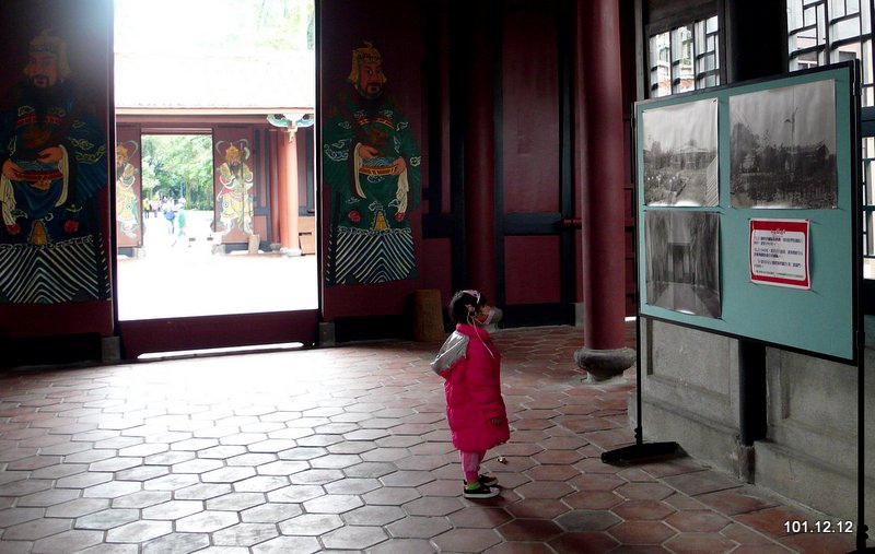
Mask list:
[[[486,451],[511,436],[501,398],[501,355],[483,329],[492,319],[486,296],[460,291],[450,300],[456,330],[444,342],[432,369],[446,379],[446,419],[453,446],[459,451],[465,473],[466,498],[492,498],[498,480],[480,474]]]

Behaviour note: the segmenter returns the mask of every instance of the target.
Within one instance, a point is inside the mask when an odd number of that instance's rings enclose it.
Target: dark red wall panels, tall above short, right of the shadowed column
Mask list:
[[[505,213],[561,211],[559,17],[514,1],[502,27]],[[537,33],[532,30],[537,28]],[[560,232],[561,233],[561,232]],[[508,305],[560,302],[559,235],[504,238]]]

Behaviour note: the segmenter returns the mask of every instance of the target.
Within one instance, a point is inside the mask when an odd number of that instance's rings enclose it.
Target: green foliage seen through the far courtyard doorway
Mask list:
[[[150,198],[184,196],[189,209],[212,210],[212,137],[143,134],[142,182]]]

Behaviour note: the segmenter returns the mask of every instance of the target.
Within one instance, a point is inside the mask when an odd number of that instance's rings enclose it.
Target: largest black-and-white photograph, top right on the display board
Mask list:
[[[733,207],[836,208],[835,95],[817,81],[730,98]]]

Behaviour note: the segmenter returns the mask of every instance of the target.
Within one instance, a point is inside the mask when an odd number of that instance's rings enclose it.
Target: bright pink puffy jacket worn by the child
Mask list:
[[[501,354],[482,328],[458,323],[456,331],[469,340],[465,356],[441,374],[446,379],[446,419],[453,446],[464,452],[483,452],[511,438],[501,398]],[[492,425],[492,417],[501,417],[501,424]]]

